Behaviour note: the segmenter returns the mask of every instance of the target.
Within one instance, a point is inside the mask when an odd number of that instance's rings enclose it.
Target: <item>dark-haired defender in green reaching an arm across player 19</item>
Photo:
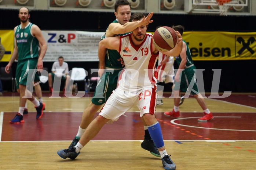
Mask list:
[[[102,39],[111,36],[124,35],[133,31],[139,26],[146,26],[147,24],[153,22],[153,20],[150,20],[153,16],[153,12],[151,12],[144,20],[129,22],[131,17],[131,4],[127,0],[116,1],[114,8],[116,20],[109,24],[109,27],[102,36]],[[103,104],[106,103],[112,91],[116,89],[118,74],[124,68],[124,66],[122,66],[120,63],[120,58],[121,56],[116,50],[107,50],[105,58],[99,58],[100,69],[98,73],[101,79],[96,86],[91,103],[83,112],[77,135],[69,147],[73,148],[76,146],[85,129],[94,119],[95,113],[102,107]],[[160,153],[149,135],[149,131],[147,130],[147,125],[144,120],[143,124],[145,128],[145,139],[142,142],[141,147],[150,151],[151,154],[160,157]]]

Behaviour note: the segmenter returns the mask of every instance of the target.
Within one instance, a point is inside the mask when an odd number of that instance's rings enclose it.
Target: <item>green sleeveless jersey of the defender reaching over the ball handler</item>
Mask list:
[[[114,20],[112,23],[118,23],[117,20]],[[108,29],[108,28],[107,28]],[[128,32],[129,33],[129,32]],[[125,33],[125,34],[118,34],[116,36],[119,36],[119,35],[126,35],[128,33]],[[101,39],[104,39],[106,38],[106,32],[104,35],[101,36]],[[117,59],[119,59],[121,57],[121,55],[118,53],[117,50],[109,50],[107,49],[106,51],[106,56],[105,56],[105,67],[109,67],[109,68],[112,68],[112,69],[122,69],[124,68],[121,64],[120,61],[117,61]]]

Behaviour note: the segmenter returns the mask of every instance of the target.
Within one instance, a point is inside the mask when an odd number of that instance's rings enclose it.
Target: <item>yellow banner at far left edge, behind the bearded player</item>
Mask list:
[[[1,61],[10,61],[11,54],[14,49],[14,33],[13,30],[0,30],[0,42],[6,49],[4,57]]]

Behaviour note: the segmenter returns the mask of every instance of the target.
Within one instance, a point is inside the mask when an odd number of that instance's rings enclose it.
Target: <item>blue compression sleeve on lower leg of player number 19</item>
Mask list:
[[[150,125],[147,127],[149,129],[149,134],[154,141],[157,148],[161,148],[164,146],[164,139],[162,136],[162,130],[159,122]]]

